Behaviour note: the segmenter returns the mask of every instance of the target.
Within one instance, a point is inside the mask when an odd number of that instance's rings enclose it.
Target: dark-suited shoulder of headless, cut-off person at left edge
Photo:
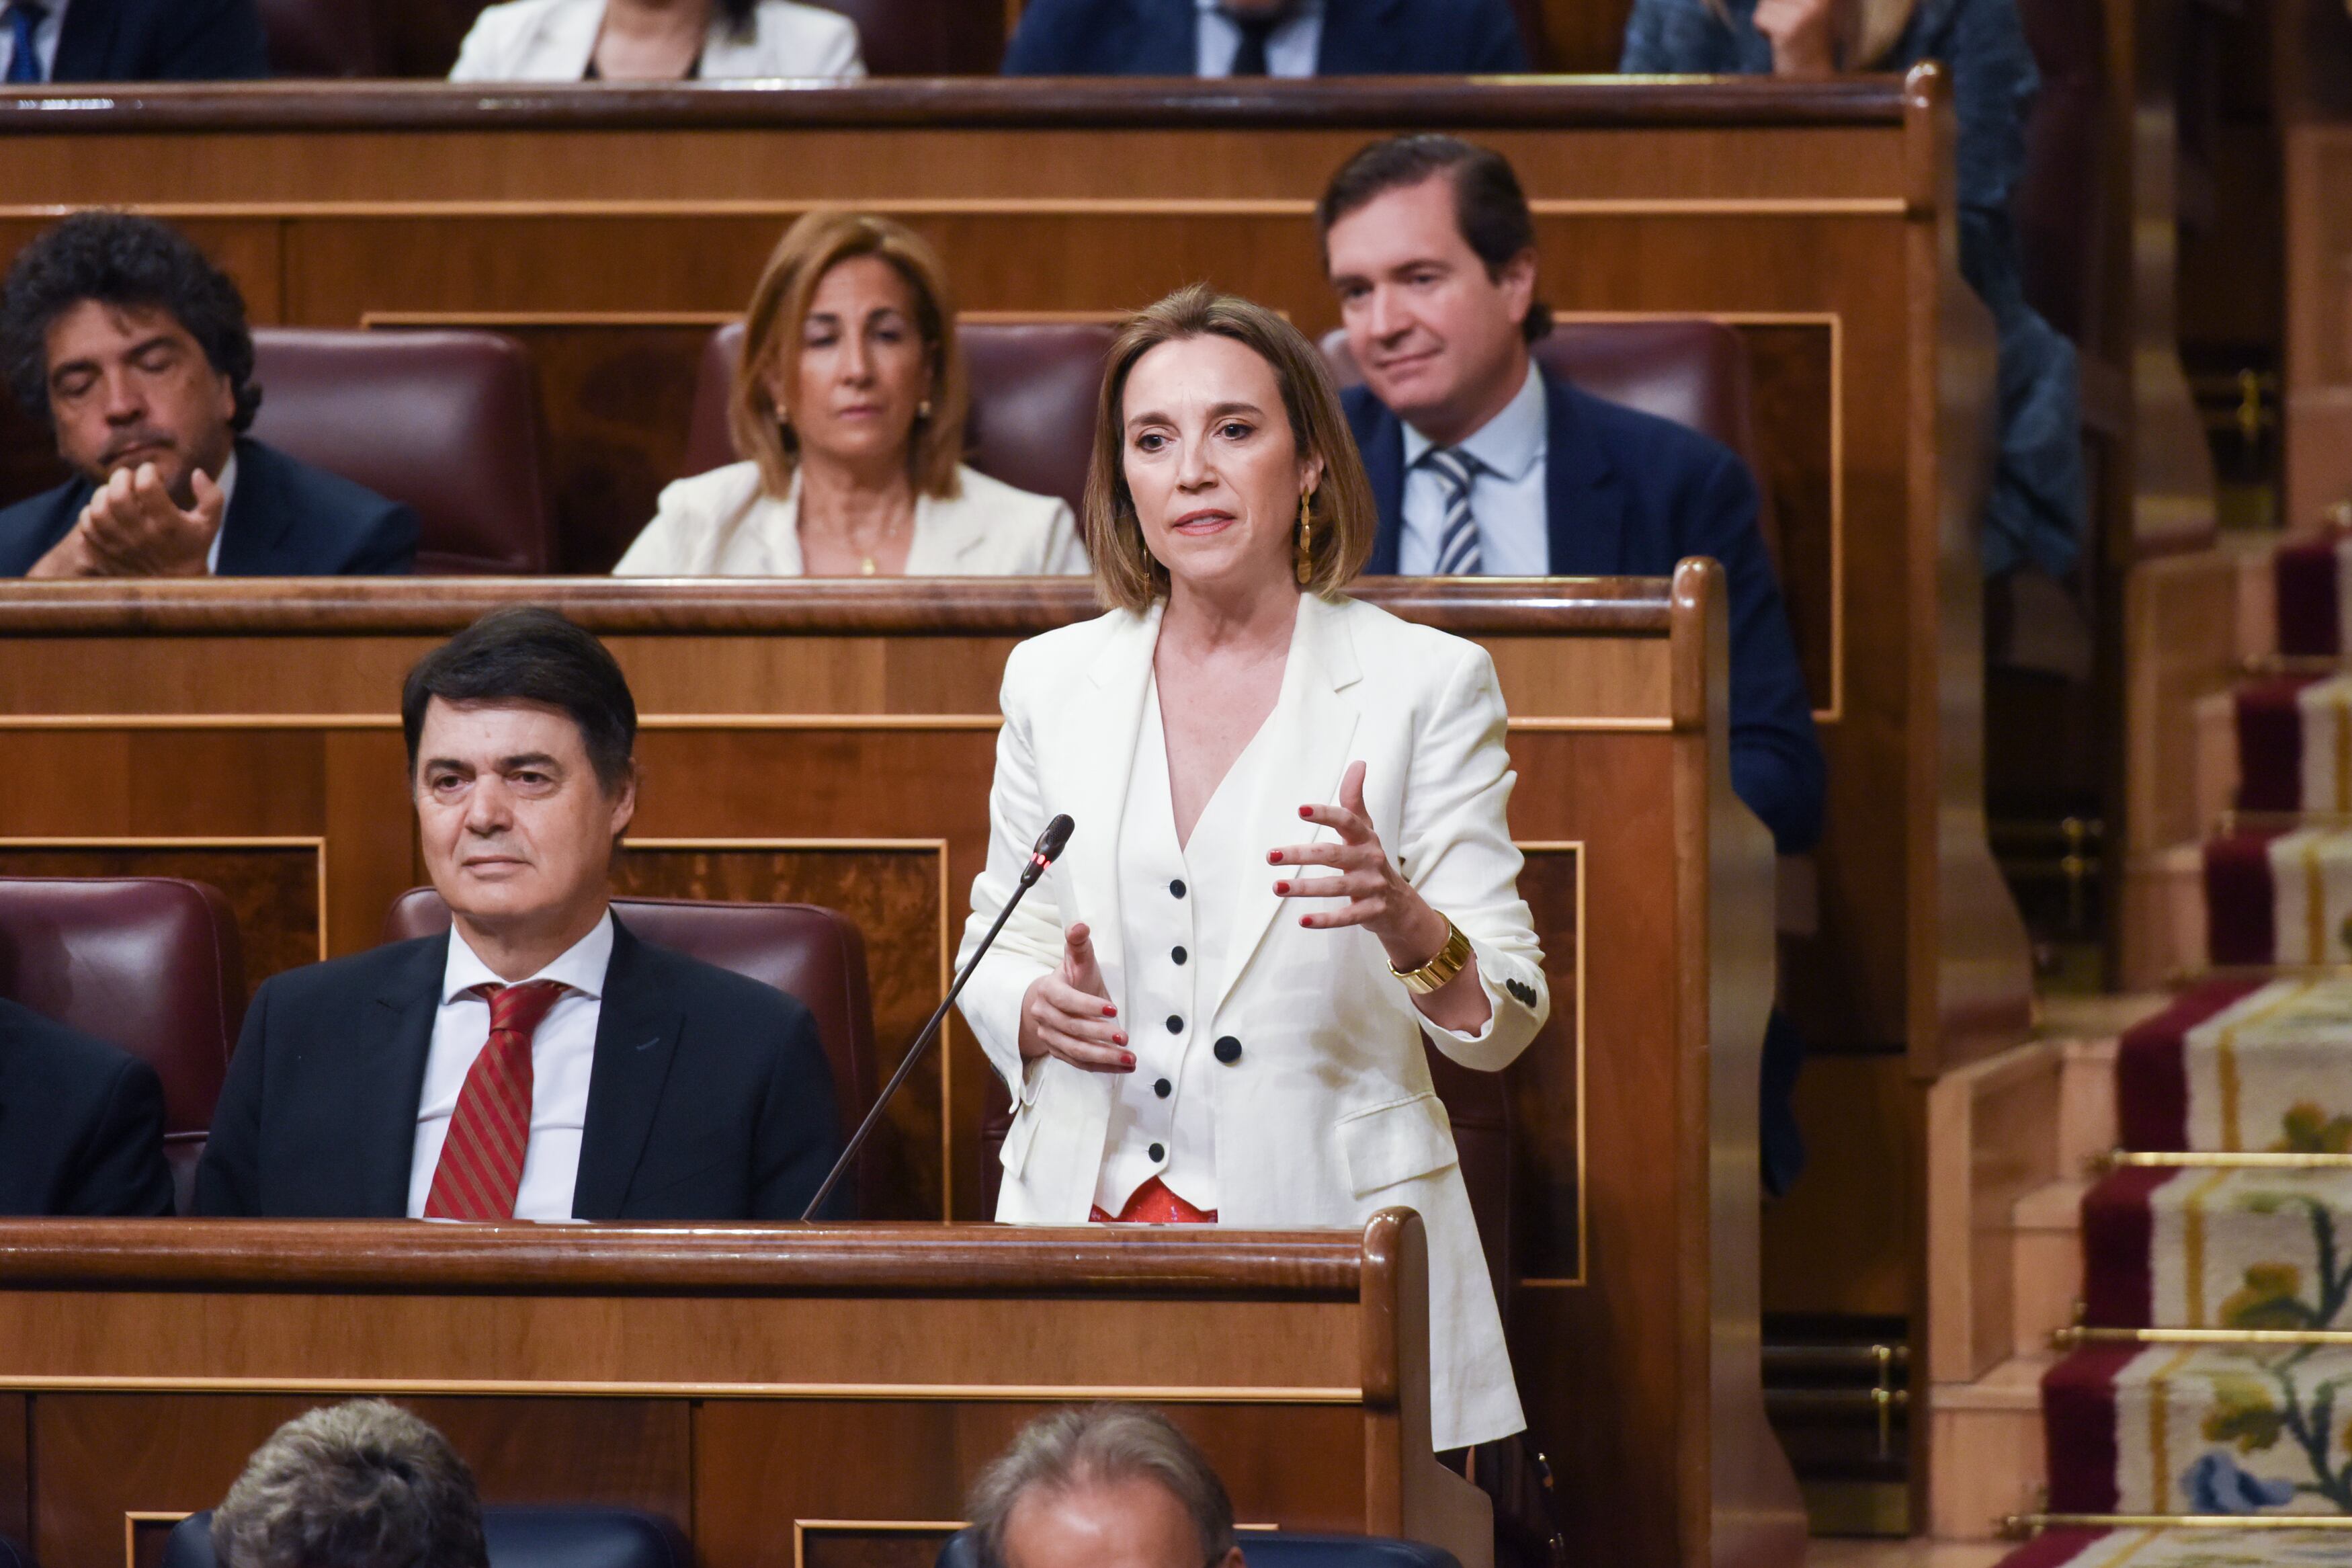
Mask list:
[[[5,999],[0,1213],[172,1213],[155,1070]]]

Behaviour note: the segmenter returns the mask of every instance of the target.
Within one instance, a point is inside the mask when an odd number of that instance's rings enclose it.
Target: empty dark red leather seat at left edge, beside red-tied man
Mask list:
[[[221,891],[174,877],[0,877],[0,997],[155,1067],[165,1159],[188,1213],[245,1023],[245,954]]]

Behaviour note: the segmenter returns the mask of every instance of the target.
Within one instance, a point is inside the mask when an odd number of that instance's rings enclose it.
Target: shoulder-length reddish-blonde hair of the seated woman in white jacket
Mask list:
[[[948,268],[906,223],[866,212],[811,212],[783,230],[767,270],[760,273],[760,287],[750,292],[727,430],[736,451],[760,465],[760,487],[769,496],[793,489],[800,437],[786,418],[788,409],[779,409],[769,395],[767,371],[783,367],[786,383],[793,381],[816,284],[854,256],[889,261],[915,294],[915,331],[931,355],[931,414],[915,418],[906,468],[917,494],[950,498],[960,489],[955,468],[964,458],[964,414],[971,393],[964,383],[964,355],[955,346]]]

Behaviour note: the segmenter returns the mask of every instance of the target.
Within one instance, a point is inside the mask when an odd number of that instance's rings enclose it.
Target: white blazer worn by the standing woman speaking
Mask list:
[[[1023,1063],[1021,999],[1061,964],[1073,922],[1091,926],[1103,980],[1124,994],[1120,900],[1148,891],[1117,886],[1115,863],[1157,639],[1157,609],[1112,611],[1033,637],[1004,665],[988,870],[971,884],[964,954],[1004,907],[1047,820],[1068,811],[1077,832],[962,997],[964,1020],[1014,1091],[1000,1220],[1082,1225],[1094,1201],[1110,1079],[1054,1058]],[[1282,1229],[1362,1225],[1392,1204],[1421,1211],[1432,1436],[1439,1448],[1491,1441],[1526,1422],[1421,1041],[1496,1072],[1550,1011],[1505,823],[1515,773],[1494,661],[1475,642],[1310,595],[1265,724],[1272,750],[1249,827],[1207,851],[1230,856],[1249,889],[1225,936],[1223,997],[1209,1027],[1192,1030],[1195,1051],[1218,1039],[1240,1046],[1211,1072],[1218,1222]],[[1477,1034],[1428,1023],[1369,931],[1308,931],[1282,917],[1265,851],[1329,837],[1301,823],[1298,806],[1336,802],[1350,762],[1367,764],[1364,804],[1390,858],[1477,950],[1494,1006]]]

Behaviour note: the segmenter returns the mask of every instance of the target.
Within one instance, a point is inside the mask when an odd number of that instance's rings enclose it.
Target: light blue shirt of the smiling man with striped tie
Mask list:
[[[1397,571],[1404,576],[1428,576],[1437,569],[1451,487],[1421,461],[1430,447],[1435,447],[1430,437],[1404,425],[1404,536],[1397,541]],[[1552,574],[1545,498],[1550,447],[1550,400],[1543,395],[1543,374],[1529,364],[1519,393],[1461,444],[1461,451],[1477,458],[1470,517],[1477,522],[1479,576]]]

